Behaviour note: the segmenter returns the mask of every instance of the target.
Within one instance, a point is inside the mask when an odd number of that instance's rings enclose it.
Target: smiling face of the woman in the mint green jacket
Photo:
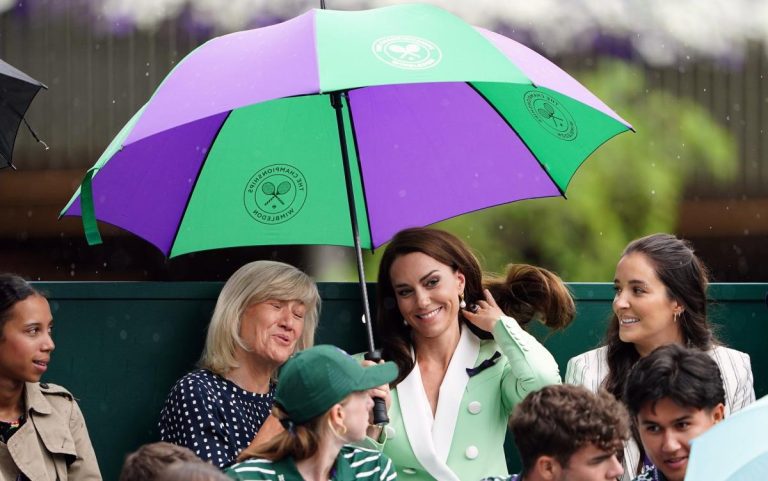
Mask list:
[[[389,269],[397,306],[416,338],[438,338],[458,330],[464,275],[432,257],[413,252]]]

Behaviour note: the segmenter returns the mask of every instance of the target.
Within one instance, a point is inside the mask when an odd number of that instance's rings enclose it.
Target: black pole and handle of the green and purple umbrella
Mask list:
[[[343,93],[346,96],[346,92]],[[363,249],[360,247],[360,229],[357,224],[357,211],[355,210],[355,193],[352,184],[352,170],[349,167],[349,153],[347,152],[347,135],[344,129],[344,115],[342,109],[344,104],[341,101],[341,92],[331,93],[331,106],[336,111],[336,125],[339,129],[339,142],[341,142],[341,158],[344,164],[344,181],[347,184],[347,204],[349,205],[349,219],[352,221],[352,237],[355,242],[355,256],[357,258],[357,276],[360,280],[360,297],[363,301],[363,322],[365,332],[368,335],[368,353],[365,358],[379,362],[381,361],[381,352],[376,350],[373,344],[373,325],[371,324],[371,309],[368,303],[368,290],[365,286],[365,270],[363,269]],[[362,173],[361,173],[362,175]],[[383,425],[389,422],[387,417],[387,407],[381,398],[373,399],[373,424]]]

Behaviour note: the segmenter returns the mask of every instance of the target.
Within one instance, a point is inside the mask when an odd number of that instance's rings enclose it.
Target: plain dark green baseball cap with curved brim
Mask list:
[[[393,362],[363,367],[336,346],[315,346],[294,354],[280,368],[275,403],[288,419],[303,424],[353,392],[388,384],[396,377]]]

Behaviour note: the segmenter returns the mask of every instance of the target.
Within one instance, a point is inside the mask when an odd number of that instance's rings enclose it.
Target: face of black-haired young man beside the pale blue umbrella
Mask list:
[[[640,439],[651,462],[669,481],[683,481],[690,441],[722,421],[725,406],[711,410],[680,406],[670,399],[646,403],[637,413]]]

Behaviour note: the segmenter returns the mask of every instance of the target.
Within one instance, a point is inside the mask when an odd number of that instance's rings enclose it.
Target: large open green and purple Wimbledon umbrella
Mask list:
[[[355,246],[362,283],[361,248],[563,195],[631,129],[544,57],[440,8],[311,10],[190,53],[62,215],[81,215],[89,242],[100,220],[169,257]]]

